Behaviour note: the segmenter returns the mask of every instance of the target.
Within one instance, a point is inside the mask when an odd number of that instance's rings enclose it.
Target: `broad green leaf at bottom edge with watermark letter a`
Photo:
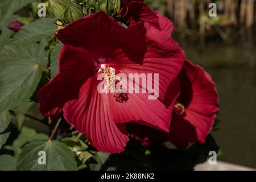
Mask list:
[[[46,152],[46,164],[39,165],[38,152]],[[47,171],[66,171],[77,170],[76,160],[73,152],[65,144],[53,141],[32,141],[24,148],[19,155],[17,170],[47,170]]]

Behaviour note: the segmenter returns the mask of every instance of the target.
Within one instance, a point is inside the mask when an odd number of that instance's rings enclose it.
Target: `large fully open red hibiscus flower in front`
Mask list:
[[[123,151],[129,140],[127,121],[169,131],[179,86],[172,87],[174,96],[165,95],[184,60],[184,52],[174,40],[148,23],[125,28],[102,12],[72,22],[56,36],[64,46],[59,53],[59,72],[38,94],[44,117],[63,110],[67,122],[97,150],[112,153]],[[109,78],[113,69],[125,75],[158,73],[158,99],[148,100],[152,96],[148,90],[99,93],[98,75]]]

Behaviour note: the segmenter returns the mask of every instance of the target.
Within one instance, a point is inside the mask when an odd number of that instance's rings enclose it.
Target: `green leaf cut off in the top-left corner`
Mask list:
[[[0,1],[1,3],[1,20],[4,21],[6,18],[9,18],[10,15],[16,13],[16,11],[27,6],[35,0],[8,0]]]

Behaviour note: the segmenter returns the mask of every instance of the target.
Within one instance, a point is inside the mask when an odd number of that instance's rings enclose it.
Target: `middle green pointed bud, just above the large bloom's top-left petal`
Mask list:
[[[64,13],[64,18],[69,23],[80,19],[84,17],[84,14],[82,14],[82,8],[81,6],[77,5],[76,3],[69,3],[68,9]]]

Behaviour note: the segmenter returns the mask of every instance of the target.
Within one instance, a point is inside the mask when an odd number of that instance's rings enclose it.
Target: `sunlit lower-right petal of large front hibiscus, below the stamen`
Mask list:
[[[118,102],[109,94],[109,106],[115,123],[134,121],[168,132],[172,108],[159,100],[148,100],[148,94],[129,94],[127,102]]]

